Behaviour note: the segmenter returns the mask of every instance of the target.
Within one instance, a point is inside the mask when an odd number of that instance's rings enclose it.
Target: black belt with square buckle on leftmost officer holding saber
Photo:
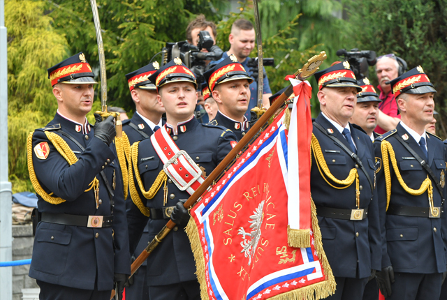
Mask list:
[[[113,216],[79,216],[68,213],[42,213],[42,222],[82,227],[110,227]]]

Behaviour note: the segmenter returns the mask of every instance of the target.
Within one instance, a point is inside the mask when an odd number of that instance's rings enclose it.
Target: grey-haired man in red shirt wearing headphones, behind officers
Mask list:
[[[404,73],[405,69],[405,61],[396,57],[395,54],[382,55],[377,59],[376,75],[377,80],[379,80],[377,88],[380,91],[379,98],[382,100],[382,103],[379,104],[378,125],[374,130],[376,133],[386,133],[388,130],[396,128],[400,122],[396,99],[394,94],[391,93],[389,82]]]

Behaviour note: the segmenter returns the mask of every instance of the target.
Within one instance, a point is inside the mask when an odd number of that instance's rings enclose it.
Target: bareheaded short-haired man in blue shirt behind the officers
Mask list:
[[[230,36],[228,36],[228,40],[230,41],[230,50],[227,52],[223,52],[222,58],[219,61],[213,61],[212,63],[219,63],[226,59],[231,54],[235,54],[237,61],[239,61],[242,66],[244,66],[247,73],[251,78],[254,79],[254,82],[250,84],[251,97],[249,102],[249,108],[245,113],[245,117],[250,119],[250,110],[258,104],[258,83],[256,82],[256,78],[253,76],[253,71],[248,66],[249,55],[251,51],[254,49],[255,43],[255,31],[253,24],[249,20],[238,19],[236,20],[232,27]],[[263,70],[265,73],[265,68]],[[272,91],[270,90],[270,85],[268,83],[268,77],[264,77],[263,82],[263,107],[270,107],[270,102],[268,98],[272,96]]]

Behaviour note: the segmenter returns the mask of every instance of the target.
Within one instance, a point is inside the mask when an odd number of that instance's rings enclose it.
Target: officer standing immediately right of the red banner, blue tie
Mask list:
[[[312,136],[311,193],[337,290],[328,299],[362,299],[380,270],[381,235],[371,139],[349,123],[362,89],[349,63],[315,73],[321,114]]]

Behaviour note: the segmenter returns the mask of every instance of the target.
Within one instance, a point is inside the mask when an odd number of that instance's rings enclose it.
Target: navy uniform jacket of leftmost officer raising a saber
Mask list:
[[[119,163],[115,153],[104,142],[94,137],[93,128],[87,134],[75,130],[76,123],[59,114],[33,135],[33,149],[47,142],[47,158],[40,159],[33,151],[33,164],[41,187],[53,197],[66,200],[61,204],[50,204],[38,195],[38,211],[41,213],[68,213],[80,216],[113,215],[113,226],[102,228],[80,227],[40,222],[34,239],[33,260],[29,276],[47,283],[75,287],[84,290],[112,290],[113,274],[130,274],[129,239],[127,234],[124,195]],[[89,126],[90,127],[90,126]],[[61,128],[77,140],[85,152],[68,137],[58,133]],[[67,161],[47,139],[45,130],[61,136],[73,150],[78,161],[68,165]],[[116,176],[111,199],[101,170],[112,186]],[[99,207],[96,209],[94,190],[89,183],[99,180]],[[114,202],[111,207],[110,201]],[[115,234],[114,234],[115,232]],[[115,239],[114,239],[115,235]]]

